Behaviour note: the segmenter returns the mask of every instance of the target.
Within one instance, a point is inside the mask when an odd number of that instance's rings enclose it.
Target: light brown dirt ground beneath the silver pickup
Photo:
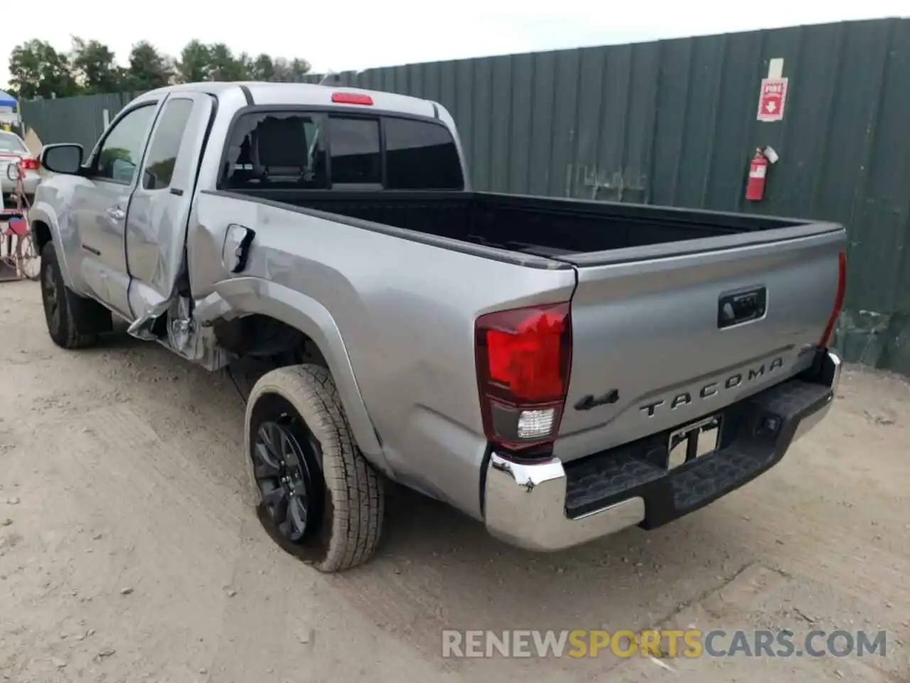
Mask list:
[[[910,681],[910,386],[856,368],[768,474],[558,555],[407,492],[323,576],[241,493],[234,386],[125,336],[64,352],[0,285],[0,676],[56,681]],[[444,628],[887,632],[885,657],[443,659]],[[661,666],[665,664],[665,666]]]

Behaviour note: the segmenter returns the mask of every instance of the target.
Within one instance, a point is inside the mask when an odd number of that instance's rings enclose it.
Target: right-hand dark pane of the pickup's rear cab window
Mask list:
[[[461,161],[448,128],[389,117],[386,126],[386,187],[464,189]]]

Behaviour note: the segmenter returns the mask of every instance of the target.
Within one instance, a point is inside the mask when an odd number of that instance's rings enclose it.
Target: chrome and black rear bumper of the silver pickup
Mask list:
[[[721,447],[669,471],[669,433],[564,465],[491,454],[483,485],[487,529],[512,545],[546,551],[687,515],[777,464],[830,410],[840,377],[840,358],[826,352],[812,376],[727,408]]]

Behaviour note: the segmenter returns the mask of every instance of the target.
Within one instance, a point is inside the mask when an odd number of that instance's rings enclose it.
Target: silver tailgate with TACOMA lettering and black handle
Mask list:
[[[688,423],[804,370],[844,245],[841,226],[814,224],[566,257],[578,285],[554,454]]]

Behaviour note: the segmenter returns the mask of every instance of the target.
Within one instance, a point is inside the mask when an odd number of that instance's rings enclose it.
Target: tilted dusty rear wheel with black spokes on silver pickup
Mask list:
[[[278,545],[327,573],[369,560],[384,481],[354,443],[328,370],[291,365],[259,378],[245,443],[254,506]]]

